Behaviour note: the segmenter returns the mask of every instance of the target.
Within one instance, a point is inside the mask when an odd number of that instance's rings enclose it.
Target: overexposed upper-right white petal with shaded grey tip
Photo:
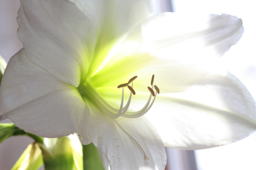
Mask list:
[[[129,32],[93,80],[98,87],[116,87],[138,75],[134,86],[145,92],[155,74],[162,93],[185,91],[215,68],[243,30],[241,19],[225,14],[157,15]]]

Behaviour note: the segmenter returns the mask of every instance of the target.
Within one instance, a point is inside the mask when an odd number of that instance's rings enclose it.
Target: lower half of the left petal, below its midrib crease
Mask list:
[[[85,104],[74,89],[49,93],[8,113],[17,127],[41,137],[63,137],[79,132]],[[75,91],[76,92],[76,91]],[[86,124],[83,126],[86,129]]]

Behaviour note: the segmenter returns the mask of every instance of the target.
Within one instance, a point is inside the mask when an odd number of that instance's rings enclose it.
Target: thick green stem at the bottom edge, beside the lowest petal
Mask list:
[[[104,170],[97,147],[93,143],[83,145],[84,170]]]

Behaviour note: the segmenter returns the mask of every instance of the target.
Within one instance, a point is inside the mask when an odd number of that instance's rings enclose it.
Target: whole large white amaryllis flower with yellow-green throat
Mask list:
[[[97,146],[105,169],[164,169],[164,146],[204,149],[255,131],[248,90],[210,73],[240,39],[241,19],[152,16],[148,0],[72,2],[21,0],[24,48],[3,76],[2,119],[42,137],[76,132]],[[136,75],[128,86],[136,95],[117,88]]]

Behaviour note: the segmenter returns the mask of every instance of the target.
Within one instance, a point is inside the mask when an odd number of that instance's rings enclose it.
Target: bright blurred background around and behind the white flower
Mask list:
[[[155,14],[186,12],[200,14],[231,14],[244,22],[245,33],[222,58],[225,68],[236,75],[256,99],[256,11],[254,0],[153,0]],[[22,48],[16,31],[19,0],[0,0],[0,54],[8,62]],[[10,119],[0,123],[10,123]],[[216,125],[218,126],[218,125]],[[33,140],[16,136],[0,144],[0,170],[11,169]],[[256,169],[256,133],[230,145],[198,151],[167,148],[168,170],[254,170]]]

